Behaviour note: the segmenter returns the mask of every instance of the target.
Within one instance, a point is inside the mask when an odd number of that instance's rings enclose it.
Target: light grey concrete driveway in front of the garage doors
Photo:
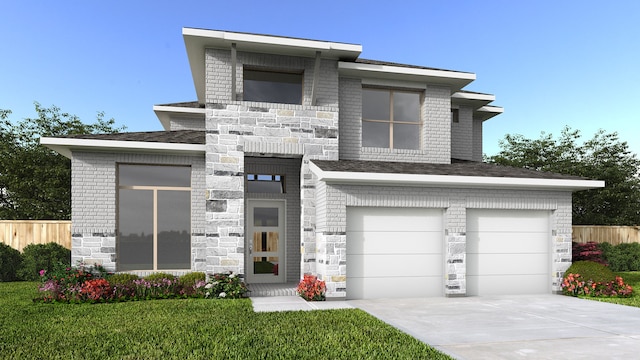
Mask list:
[[[352,300],[457,359],[635,359],[640,308],[562,295]]]

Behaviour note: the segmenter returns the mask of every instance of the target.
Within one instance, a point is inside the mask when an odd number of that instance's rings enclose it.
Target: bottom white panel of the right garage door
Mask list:
[[[504,294],[549,294],[551,279],[539,275],[467,275],[467,294],[490,294],[494,289],[505,289]]]

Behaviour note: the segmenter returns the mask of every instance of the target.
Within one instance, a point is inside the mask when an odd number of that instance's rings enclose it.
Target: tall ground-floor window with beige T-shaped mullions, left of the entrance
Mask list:
[[[191,268],[191,167],[118,166],[118,271]]]

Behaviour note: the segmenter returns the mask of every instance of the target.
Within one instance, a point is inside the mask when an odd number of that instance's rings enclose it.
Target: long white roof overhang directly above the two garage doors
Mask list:
[[[318,177],[318,180],[332,184],[563,191],[579,191],[604,187],[604,181],[601,180],[325,171],[320,169],[313,162],[309,163],[309,168]]]

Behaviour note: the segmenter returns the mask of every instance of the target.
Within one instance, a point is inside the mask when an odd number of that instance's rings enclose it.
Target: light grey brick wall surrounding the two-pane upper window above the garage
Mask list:
[[[450,164],[449,88],[427,86],[423,92],[421,115],[421,150],[362,147],[362,82],[341,77],[340,159]]]

